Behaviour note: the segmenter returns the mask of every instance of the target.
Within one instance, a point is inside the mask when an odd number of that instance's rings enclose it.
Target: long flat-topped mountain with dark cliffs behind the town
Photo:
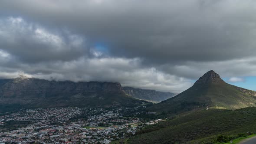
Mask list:
[[[0,111],[60,106],[135,106],[141,101],[125,94],[120,83],[48,81],[20,77],[0,80]]]

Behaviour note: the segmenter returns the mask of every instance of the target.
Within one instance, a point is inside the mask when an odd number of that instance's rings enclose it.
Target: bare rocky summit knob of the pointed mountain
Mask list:
[[[209,72],[205,73],[201,76],[196,84],[205,84],[205,83],[224,83],[224,81],[220,78],[220,75],[210,70]]]

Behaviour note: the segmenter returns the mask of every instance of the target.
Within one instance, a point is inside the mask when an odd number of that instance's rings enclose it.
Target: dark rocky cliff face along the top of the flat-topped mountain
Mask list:
[[[121,84],[112,82],[56,82],[42,79],[0,80],[0,97],[66,97],[87,93],[124,93]]]

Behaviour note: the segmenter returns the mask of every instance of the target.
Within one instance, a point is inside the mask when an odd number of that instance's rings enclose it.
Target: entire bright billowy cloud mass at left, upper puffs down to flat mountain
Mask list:
[[[179,93],[191,86],[179,78],[144,67],[141,58],[106,55],[107,48],[89,47],[86,39],[67,30],[29,23],[21,17],[0,19],[0,78],[120,82],[124,86]]]

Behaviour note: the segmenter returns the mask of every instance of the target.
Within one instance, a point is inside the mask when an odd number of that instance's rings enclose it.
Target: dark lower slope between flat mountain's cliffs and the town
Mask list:
[[[88,94],[93,95],[93,94]],[[9,101],[11,101],[10,99]],[[142,101],[132,98],[124,93],[102,93],[95,97],[81,96],[81,97],[53,97],[53,98],[26,98],[27,102],[19,104],[10,103],[0,105],[0,114],[6,111],[15,111],[21,108],[55,108],[55,107],[135,107],[138,105],[149,104],[147,101]]]

